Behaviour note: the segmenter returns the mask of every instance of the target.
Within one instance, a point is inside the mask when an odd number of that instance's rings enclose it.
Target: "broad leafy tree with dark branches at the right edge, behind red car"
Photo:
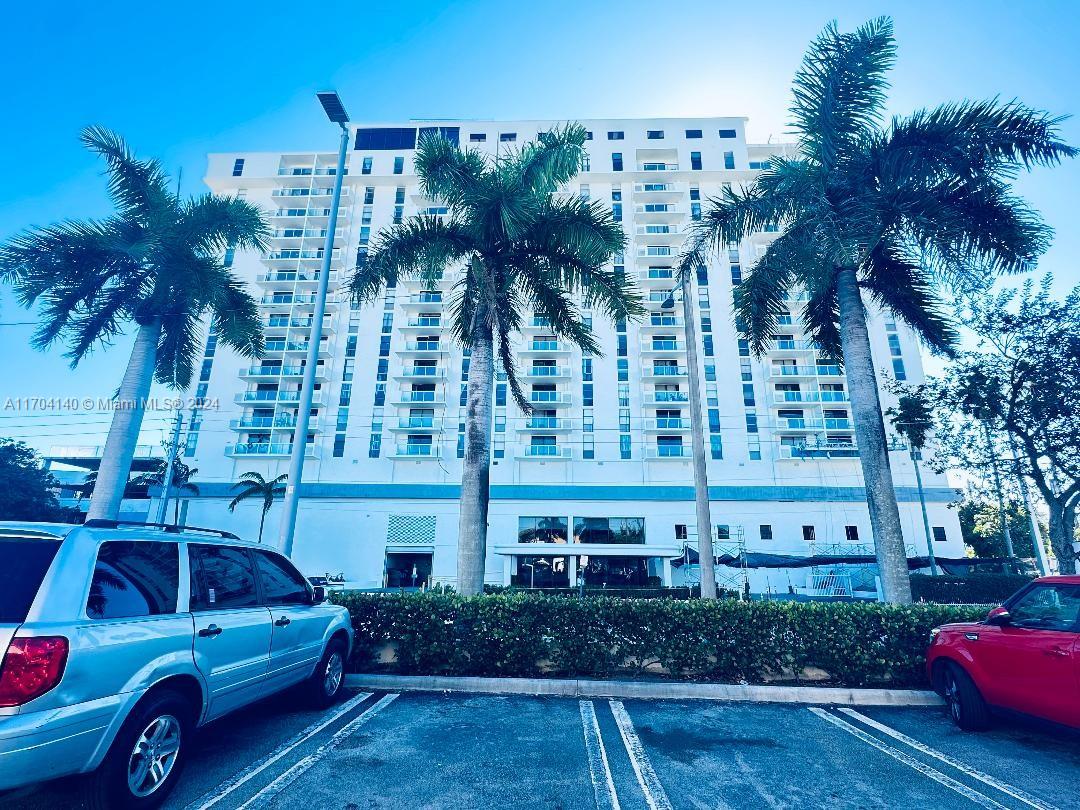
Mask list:
[[[962,318],[978,337],[977,350],[960,354],[933,382],[932,399],[942,414],[940,463],[1017,486],[1030,481],[1050,513],[1058,570],[1072,573],[1080,505],[1080,287],[1058,301],[1051,281],[972,296]]]

